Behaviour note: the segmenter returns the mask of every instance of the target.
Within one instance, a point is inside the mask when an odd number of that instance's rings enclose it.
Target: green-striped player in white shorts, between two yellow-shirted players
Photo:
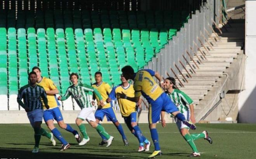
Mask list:
[[[76,100],[76,103],[81,108],[81,112],[78,114],[78,117],[76,118],[76,125],[79,127],[81,133],[83,134],[83,140],[79,143],[79,145],[85,145],[90,140],[86,133],[85,125],[82,124],[83,120],[86,120],[93,128],[97,130],[97,132],[99,132],[99,134],[106,137],[106,147],[109,147],[114,137],[107,134],[104,127],[96,123],[96,119],[93,114],[92,103],[90,102],[89,91],[92,91],[100,99],[100,104],[102,106],[104,106],[105,102],[102,100],[99,91],[94,89],[92,86],[86,84],[79,84],[78,78],[79,77],[77,73],[70,74],[70,80],[73,83],[73,85],[69,86],[69,88],[67,88],[65,95],[62,97],[59,96],[58,99],[66,100],[69,96],[72,96],[72,98]]]

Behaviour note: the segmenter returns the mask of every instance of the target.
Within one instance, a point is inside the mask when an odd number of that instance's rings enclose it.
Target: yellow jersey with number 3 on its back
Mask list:
[[[151,69],[143,69],[135,73],[133,88],[135,97],[143,95],[149,103],[157,100],[163,93],[161,87],[156,83],[152,76],[155,72]]]

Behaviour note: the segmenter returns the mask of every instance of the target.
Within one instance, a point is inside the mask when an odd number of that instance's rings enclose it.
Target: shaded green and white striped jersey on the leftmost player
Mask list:
[[[21,101],[22,98],[24,103]],[[17,102],[19,105],[21,105],[21,107],[28,107],[31,111],[33,111],[35,109],[43,109],[41,98],[43,99],[45,105],[48,105],[47,95],[43,87],[39,85],[32,87],[28,84],[21,87],[19,90]]]

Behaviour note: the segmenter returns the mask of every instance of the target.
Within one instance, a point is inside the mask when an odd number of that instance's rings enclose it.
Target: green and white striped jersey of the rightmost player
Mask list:
[[[171,101],[173,101],[173,103],[176,105],[181,113],[189,110],[189,107],[187,105],[193,103],[193,100],[183,91],[174,89],[172,93],[168,93],[168,91],[166,91],[165,93],[171,98]]]

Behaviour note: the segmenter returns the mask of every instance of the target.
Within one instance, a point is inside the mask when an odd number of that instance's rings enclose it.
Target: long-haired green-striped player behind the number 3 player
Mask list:
[[[164,81],[164,89],[166,89],[166,94],[171,98],[171,101],[173,101],[173,103],[176,105],[179,111],[186,117],[186,120],[191,120],[193,123],[195,123],[193,100],[183,91],[176,89],[175,78],[166,78],[166,80]],[[165,112],[161,112],[163,127],[166,126],[164,120],[164,113]],[[178,129],[180,130],[180,134],[184,137],[184,139],[188,142],[188,144],[193,150],[191,157],[200,156],[200,153],[195,146],[194,140],[202,138],[208,140],[210,144],[213,143],[211,137],[208,136],[208,132],[206,130],[200,134],[189,134],[189,127],[184,125],[176,117],[175,122]]]

